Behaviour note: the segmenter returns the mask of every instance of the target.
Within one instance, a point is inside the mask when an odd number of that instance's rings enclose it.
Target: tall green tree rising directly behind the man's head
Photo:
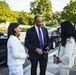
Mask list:
[[[41,15],[45,23],[50,23],[52,19],[52,5],[50,0],[35,0],[31,2],[30,11],[34,15]]]

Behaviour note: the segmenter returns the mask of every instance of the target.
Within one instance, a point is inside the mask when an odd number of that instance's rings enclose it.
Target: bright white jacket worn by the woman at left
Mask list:
[[[11,35],[7,42],[7,65],[22,65],[26,59],[25,49],[20,40]]]

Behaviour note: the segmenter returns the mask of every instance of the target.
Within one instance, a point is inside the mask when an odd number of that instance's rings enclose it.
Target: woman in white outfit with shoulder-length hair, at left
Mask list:
[[[11,23],[8,27],[7,65],[9,75],[23,75],[23,64],[29,56],[18,39],[21,28],[18,23]]]

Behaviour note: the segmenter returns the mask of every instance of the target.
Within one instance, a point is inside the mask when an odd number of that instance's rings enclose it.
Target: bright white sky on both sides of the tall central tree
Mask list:
[[[14,11],[26,11],[30,12],[30,2],[34,0],[5,0],[10,8]],[[70,0],[51,0],[52,10],[55,11],[62,11],[64,6],[69,3]]]

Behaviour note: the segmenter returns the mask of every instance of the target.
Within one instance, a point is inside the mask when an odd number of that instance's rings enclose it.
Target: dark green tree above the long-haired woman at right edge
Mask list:
[[[76,25],[76,1],[70,2],[62,11],[62,18],[71,21]]]

